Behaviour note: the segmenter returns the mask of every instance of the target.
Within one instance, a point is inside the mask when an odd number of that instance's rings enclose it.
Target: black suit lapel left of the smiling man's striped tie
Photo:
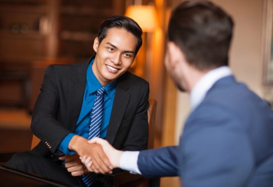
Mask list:
[[[86,82],[86,70],[89,62],[75,64],[71,68],[71,80],[69,83],[69,107],[68,107],[68,129],[75,130],[80,113]]]

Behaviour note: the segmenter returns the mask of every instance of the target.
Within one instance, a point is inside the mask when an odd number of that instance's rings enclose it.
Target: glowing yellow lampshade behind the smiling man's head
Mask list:
[[[127,8],[125,16],[138,22],[144,32],[154,31],[157,21],[153,6],[131,5]]]

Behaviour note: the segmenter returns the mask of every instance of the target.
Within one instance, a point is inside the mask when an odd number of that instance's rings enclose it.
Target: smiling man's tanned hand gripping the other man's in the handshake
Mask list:
[[[74,135],[69,142],[68,149],[77,152],[79,156],[87,156],[92,160],[93,171],[96,173],[111,173],[113,166],[105,155],[101,145],[88,144],[88,140]]]

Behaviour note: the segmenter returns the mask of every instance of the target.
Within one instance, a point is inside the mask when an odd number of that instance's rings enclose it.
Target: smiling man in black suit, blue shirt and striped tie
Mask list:
[[[87,143],[95,125],[92,110],[99,89],[104,95],[95,136],[119,150],[146,149],[149,84],[127,71],[141,45],[140,26],[128,17],[112,16],[95,38],[95,57],[77,64],[50,65],[31,122],[41,142],[30,152],[16,154],[7,165],[73,186],[95,185],[96,175],[88,173],[79,156],[89,155],[98,172],[112,170],[101,146]]]

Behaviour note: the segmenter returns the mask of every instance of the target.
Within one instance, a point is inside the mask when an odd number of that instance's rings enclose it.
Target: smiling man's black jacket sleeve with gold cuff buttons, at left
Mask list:
[[[31,130],[52,153],[55,153],[62,139],[70,131],[57,121],[60,96],[54,65],[45,70],[40,90],[33,110]]]

